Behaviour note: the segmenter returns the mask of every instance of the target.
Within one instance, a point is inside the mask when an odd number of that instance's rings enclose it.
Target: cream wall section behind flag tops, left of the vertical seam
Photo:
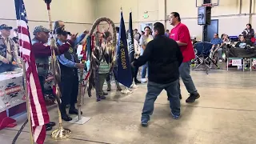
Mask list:
[[[133,27],[139,29],[142,22],[158,21],[158,6],[162,0],[96,0],[96,17],[108,17],[112,19],[116,26],[120,22],[120,8],[126,23],[126,29],[129,22],[129,13],[133,13]],[[149,18],[143,18],[145,11],[148,11]]]

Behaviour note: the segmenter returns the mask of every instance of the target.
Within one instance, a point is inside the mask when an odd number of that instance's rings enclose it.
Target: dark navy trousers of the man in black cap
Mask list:
[[[66,105],[70,104],[70,109],[74,109],[74,104],[78,98],[78,74],[62,74],[61,79],[62,103],[61,111],[66,113]]]

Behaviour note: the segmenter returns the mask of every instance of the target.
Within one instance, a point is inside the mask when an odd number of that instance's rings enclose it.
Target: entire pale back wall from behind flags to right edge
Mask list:
[[[176,11],[181,15],[182,22],[190,29],[190,35],[202,38],[202,26],[198,26],[198,8],[195,0],[96,0],[96,17],[109,17],[118,25],[120,20],[120,7],[122,6],[125,21],[128,22],[129,11],[133,11],[134,28],[139,28],[140,23],[144,22],[163,22],[166,29],[171,29],[169,22],[165,22],[165,17],[170,12]],[[249,22],[250,0],[242,0],[241,14],[240,0],[220,0],[219,6],[212,9],[212,19],[218,19],[218,33],[238,35]],[[253,0],[252,13],[255,14],[255,2]],[[143,18],[144,11],[148,11],[149,18]],[[256,27],[256,16],[253,15],[252,26]],[[127,27],[126,23],[126,27]],[[127,29],[127,28],[126,28]]]

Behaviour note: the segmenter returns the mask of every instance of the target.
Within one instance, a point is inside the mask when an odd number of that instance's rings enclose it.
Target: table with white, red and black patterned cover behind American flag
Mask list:
[[[0,74],[0,113],[26,102],[22,71]]]

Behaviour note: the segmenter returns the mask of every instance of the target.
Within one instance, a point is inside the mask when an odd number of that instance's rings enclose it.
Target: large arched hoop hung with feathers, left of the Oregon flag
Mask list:
[[[112,26],[113,28],[113,42],[112,44],[110,44],[110,49],[107,50],[109,57],[106,58],[106,44],[102,44],[102,34],[99,32],[96,32],[96,34],[94,34],[94,30],[101,22],[107,22],[109,24],[109,26]],[[105,99],[106,97],[104,96],[104,94],[102,94],[102,85],[100,85],[100,83],[102,83],[102,78],[99,79],[99,77],[103,77],[102,74],[99,74],[99,70],[101,70],[102,68],[100,67],[101,65],[105,68],[107,68],[107,66],[114,66],[114,61],[115,58],[113,58],[112,56],[115,54],[115,49],[114,47],[116,46],[116,30],[114,29],[114,22],[112,22],[110,20],[110,18],[98,18],[95,22],[94,25],[92,26],[91,30],[90,30],[90,35],[88,36],[88,38],[86,39],[87,42],[87,57],[90,60],[90,70],[89,73],[87,74],[86,78],[89,78],[89,87],[88,87],[88,95],[89,97],[92,96],[91,94],[91,90],[94,87],[96,89],[96,97],[97,97],[97,101],[100,101],[101,99]],[[109,27],[110,28],[110,27]],[[108,30],[106,30],[108,31]],[[109,32],[108,32],[109,33]],[[102,60],[103,58],[105,58],[105,60],[109,60],[109,62],[106,62],[103,64]],[[105,69],[104,68],[104,69]],[[106,69],[105,69],[106,70]],[[109,71],[108,71],[109,72]],[[100,76],[101,75],[101,76]],[[106,78],[106,77],[105,77]],[[105,81],[104,78],[104,81]]]

